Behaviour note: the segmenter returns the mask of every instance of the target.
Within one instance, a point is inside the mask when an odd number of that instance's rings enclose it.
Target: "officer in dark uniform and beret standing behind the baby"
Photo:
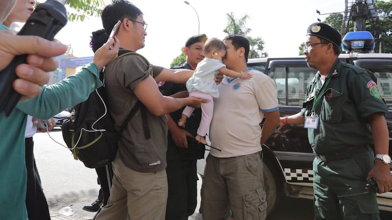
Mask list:
[[[205,34],[190,37],[184,47],[186,61],[175,65],[171,69],[195,70],[196,65],[204,59]],[[164,96],[183,98],[188,96],[185,84],[159,82],[159,90]],[[197,159],[204,158],[205,146],[197,143],[196,135],[200,123],[201,109],[197,108],[192,117],[187,120],[185,129],[177,125],[181,118],[181,108],[168,118],[168,151],[166,168],[168,176],[169,194],[166,207],[166,220],[188,220],[196,209],[197,204]]]

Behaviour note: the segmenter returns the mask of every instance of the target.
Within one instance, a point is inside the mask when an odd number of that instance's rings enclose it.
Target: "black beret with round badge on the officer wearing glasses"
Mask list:
[[[314,35],[331,42],[337,48],[342,44],[342,35],[335,28],[324,23],[313,23],[308,27],[306,35]]]

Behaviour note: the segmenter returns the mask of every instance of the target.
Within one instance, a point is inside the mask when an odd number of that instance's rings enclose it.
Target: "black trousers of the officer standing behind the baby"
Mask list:
[[[166,220],[188,220],[197,204],[197,160],[168,161]]]

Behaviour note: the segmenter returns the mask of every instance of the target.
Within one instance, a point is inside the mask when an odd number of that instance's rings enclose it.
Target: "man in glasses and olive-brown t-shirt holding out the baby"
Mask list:
[[[116,37],[120,48],[145,47],[147,24],[142,11],[127,0],[112,0],[101,12],[104,33],[121,21]],[[95,47],[97,41],[92,42]],[[118,130],[136,103],[136,114],[126,123],[112,162],[113,179],[108,202],[96,220],[164,220],[168,196],[167,118],[185,105],[199,107],[200,98],[163,96],[157,81],[185,83],[191,70],[171,70],[149,64],[141,54],[124,53],[105,67],[107,105]]]

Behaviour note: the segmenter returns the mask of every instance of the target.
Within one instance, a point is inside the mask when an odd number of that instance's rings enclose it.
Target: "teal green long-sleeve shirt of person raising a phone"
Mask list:
[[[102,86],[98,67],[91,63],[66,79],[44,86],[43,92],[19,102],[11,115],[0,115],[0,220],[27,220],[25,206],[25,126],[27,115],[49,119],[86,100]]]

